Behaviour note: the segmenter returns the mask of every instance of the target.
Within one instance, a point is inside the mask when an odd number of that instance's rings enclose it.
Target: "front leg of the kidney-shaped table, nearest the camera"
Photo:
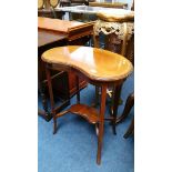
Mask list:
[[[101,163],[101,149],[104,132],[104,112],[105,112],[105,100],[107,100],[107,85],[101,87],[101,104],[100,104],[100,122],[99,122],[99,135],[98,135],[98,154],[97,163]]]

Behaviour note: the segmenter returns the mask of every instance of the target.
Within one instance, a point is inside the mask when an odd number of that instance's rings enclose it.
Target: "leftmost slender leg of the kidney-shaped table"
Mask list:
[[[52,83],[51,83],[51,74],[48,67],[45,67],[45,74],[48,80],[48,88],[50,93],[50,103],[51,103],[51,113],[53,115],[53,134],[57,133],[57,118],[55,117],[55,110],[54,110],[54,100],[53,100],[53,91],[52,91]]]

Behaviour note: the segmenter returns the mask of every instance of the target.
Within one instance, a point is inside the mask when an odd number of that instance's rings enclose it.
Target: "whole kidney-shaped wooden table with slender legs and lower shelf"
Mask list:
[[[111,119],[115,127],[118,112],[118,102],[121,92],[121,85],[132,72],[132,63],[124,57],[90,47],[68,45],[53,48],[42,54],[45,64],[47,80],[51,100],[51,110],[53,112],[53,133],[57,132],[57,119],[68,112],[80,115],[88,120],[91,124],[98,127],[98,153],[97,163],[101,163],[101,149],[104,130],[104,112],[107,88],[115,84],[113,118]],[[51,85],[50,69],[59,68],[63,71],[73,71],[77,80],[77,104],[70,107],[69,110],[55,114],[53,92]],[[89,83],[101,88],[100,112],[94,108],[80,103],[79,78],[84,78]]]

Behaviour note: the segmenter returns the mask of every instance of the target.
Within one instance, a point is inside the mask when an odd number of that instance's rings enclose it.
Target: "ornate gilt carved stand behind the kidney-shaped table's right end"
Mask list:
[[[124,9],[114,9],[97,13],[99,20],[94,24],[94,47],[99,48],[100,33],[105,36],[105,50],[120,53],[133,63],[134,54],[134,12]],[[110,97],[113,97],[112,88]],[[99,102],[99,88],[95,87],[95,105]],[[113,111],[113,99],[112,99]]]

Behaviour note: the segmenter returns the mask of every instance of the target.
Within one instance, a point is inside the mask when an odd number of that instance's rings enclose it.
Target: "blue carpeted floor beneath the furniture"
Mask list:
[[[134,90],[133,74],[128,78],[121,98],[123,110],[127,97]],[[88,85],[81,91],[81,102],[91,104],[94,99],[94,87]],[[75,97],[71,104],[75,103]],[[108,115],[108,107],[107,114]],[[134,139],[123,139],[130,124],[129,118],[117,127],[117,135],[112,133],[109,122],[105,122],[101,165],[97,160],[97,135],[94,125],[73,114],[67,114],[58,120],[59,130],[52,134],[52,121],[45,122],[38,118],[38,168],[39,172],[133,172],[134,171]]]

